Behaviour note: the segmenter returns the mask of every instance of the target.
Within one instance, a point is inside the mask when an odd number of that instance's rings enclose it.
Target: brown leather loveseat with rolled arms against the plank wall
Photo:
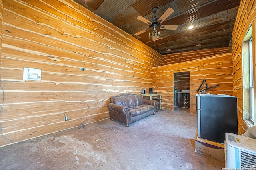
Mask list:
[[[156,101],[143,99],[136,94],[121,94],[111,98],[108,109],[111,120],[129,127],[131,123],[155,114]]]

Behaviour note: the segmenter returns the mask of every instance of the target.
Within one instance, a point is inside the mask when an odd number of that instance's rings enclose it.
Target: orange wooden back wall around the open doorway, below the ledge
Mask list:
[[[153,68],[152,82],[154,91],[162,94],[162,107],[174,109],[174,73],[190,71],[190,113],[196,114],[196,94],[202,80],[208,86],[219,84],[207,90],[211,94],[233,94],[232,53],[170,64]]]

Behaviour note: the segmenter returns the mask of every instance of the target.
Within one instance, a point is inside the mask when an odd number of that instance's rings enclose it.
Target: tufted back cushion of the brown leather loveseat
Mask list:
[[[139,106],[144,103],[143,97],[136,94],[122,94],[111,98],[111,102],[127,107]]]

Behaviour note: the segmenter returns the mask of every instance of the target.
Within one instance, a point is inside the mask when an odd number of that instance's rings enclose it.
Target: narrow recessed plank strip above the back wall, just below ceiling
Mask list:
[[[163,55],[163,65],[183,63],[185,61],[192,61],[196,59],[204,59],[206,57],[212,57],[220,54],[229,53],[228,47],[216,48],[216,49],[204,49],[189,51],[186,53],[174,53]]]

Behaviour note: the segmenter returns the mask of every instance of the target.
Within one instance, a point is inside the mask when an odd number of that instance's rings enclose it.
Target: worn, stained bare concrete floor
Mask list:
[[[196,115],[159,111],[130,127],[106,119],[0,148],[1,170],[221,170],[195,152]],[[39,138],[38,138],[39,139]]]

